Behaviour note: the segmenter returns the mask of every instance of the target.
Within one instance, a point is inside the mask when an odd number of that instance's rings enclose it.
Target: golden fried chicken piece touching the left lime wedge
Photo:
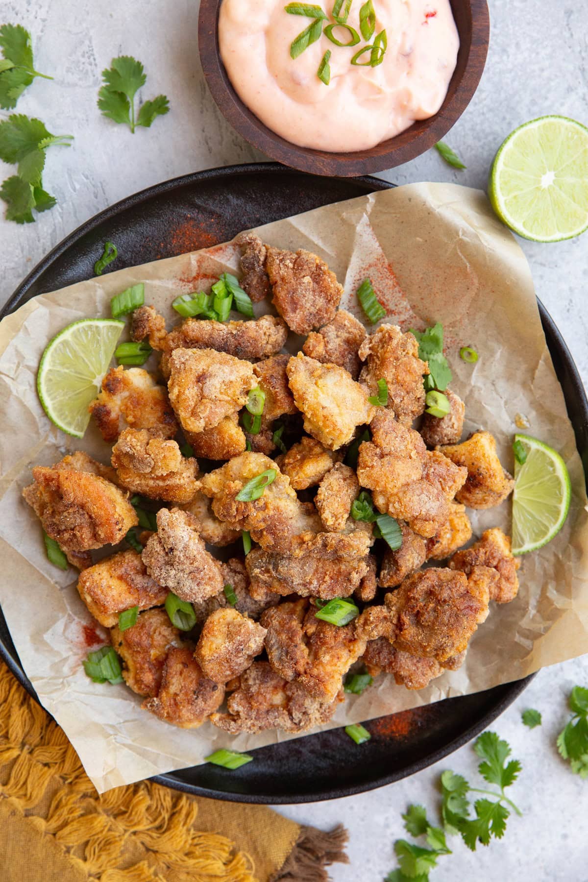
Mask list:
[[[167,389],[143,368],[111,368],[89,410],[105,441],[115,441],[127,426],[162,438],[178,429]]]

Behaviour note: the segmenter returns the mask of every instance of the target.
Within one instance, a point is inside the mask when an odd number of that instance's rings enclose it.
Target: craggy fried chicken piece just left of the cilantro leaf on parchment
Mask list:
[[[388,384],[388,407],[403,425],[410,426],[425,409],[422,378],[428,374],[427,362],[419,358],[419,344],[412,333],[402,333],[398,325],[381,325],[361,344],[360,383],[369,395],[377,394],[377,381]]]

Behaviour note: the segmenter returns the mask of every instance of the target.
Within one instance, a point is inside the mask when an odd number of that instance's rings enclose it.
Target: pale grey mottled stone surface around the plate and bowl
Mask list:
[[[433,2],[433,0],[432,0]],[[484,187],[502,139],[517,125],[558,113],[588,123],[586,0],[489,0],[492,34],[480,88],[447,136],[467,170],[456,172],[435,152],[384,173],[396,183],[455,181]],[[197,56],[198,3],[190,0],[3,0],[0,22],[20,22],[33,34],[36,79],[19,112],[40,116],[49,131],[72,134],[71,149],[49,151],[44,182],[58,206],[32,225],[0,220],[2,302],[64,235],[101,209],[144,187],[200,168],[264,158],[232,131],[205,86]],[[96,108],[100,71],[113,56],[132,54],[148,74],[143,97],[164,92],[171,112],[134,136]],[[0,112],[4,117],[4,112]],[[2,167],[2,178],[12,169]],[[570,242],[522,243],[537,294],[559,325],[578,369],[588,379],[588,234]],[[547,439],[548,440],[548,439]],[[568,719],[573,684],[588,685],[588,657],[541,671],[515,705],[495,722],[524,769],[513,797],[523,818],[510,818],[502,841],[475,854],[452,840],[454,854],[440,860],[435,882],[504,879],[534,882],[588,880],[588,781],[569,772],[555,751]],[[543,726],[520,721],[537,707]],[[358,757],[361,748],[358,748]],[[328,827],[342,821],[351,832],[350,864],[331,871],[336,882],[378,882],[396,865],[393,841],[403,835],[407,804],[428,806],[435,817],[436,781],[443,768],[475,768],[465,746],[408,781],[331,803],[282,809],[301,822]],[[361,760],[360,760],[361,761]]]

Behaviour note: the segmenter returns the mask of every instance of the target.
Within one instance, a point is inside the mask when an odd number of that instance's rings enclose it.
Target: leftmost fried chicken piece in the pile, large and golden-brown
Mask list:
[[[65,459],[72,463],[81,458]],[[83,464],[104,468],[86,456]],[[87,565],[85,552],[121,542],[138,524],[126,493],[93,471],[78,471],[63,461],[34,467],[33,483],[22,495],[74,566]]]

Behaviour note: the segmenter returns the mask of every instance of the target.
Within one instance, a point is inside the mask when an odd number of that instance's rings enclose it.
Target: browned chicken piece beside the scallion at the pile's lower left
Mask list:
[[[165,609],[147,609],[137,622],[121,631],[110,630],[115,652],[123,659],[123,680],[133,692],[153,698],[161,685],[163,665],[171,647],[179,647],[181,633]]]

